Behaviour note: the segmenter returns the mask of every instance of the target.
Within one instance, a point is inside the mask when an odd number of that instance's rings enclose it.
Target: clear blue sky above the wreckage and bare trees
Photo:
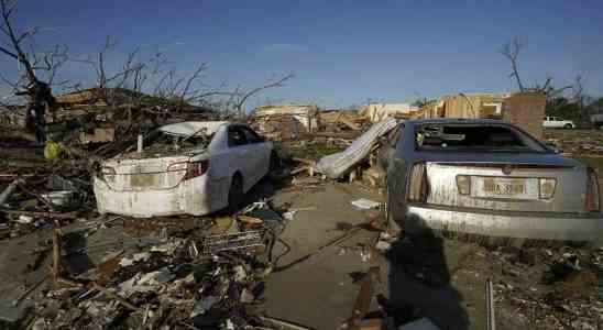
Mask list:
[[[583,76],[603,95],[603,1],[204,1],[20,0],[18,26],[46,28],[41,45],[84,56],[106,35],[118,65],[136,47],[161,47],[180,72],[206,62],[208,84],[254,87],[286,74],[284,88],[251,101],[346,107],[366,99],[508,91],[509,64],[496,51],[520,36],[526,85]],[[0,57],[0,69],[14,63]],[[69,65],[63,78],[90,82]]]

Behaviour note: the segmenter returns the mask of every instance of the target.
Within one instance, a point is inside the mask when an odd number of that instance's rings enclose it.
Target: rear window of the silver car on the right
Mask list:
[[[537,152],[548,150],[507,125],[426,124],[415,132],[417,150],[468,152]]]

